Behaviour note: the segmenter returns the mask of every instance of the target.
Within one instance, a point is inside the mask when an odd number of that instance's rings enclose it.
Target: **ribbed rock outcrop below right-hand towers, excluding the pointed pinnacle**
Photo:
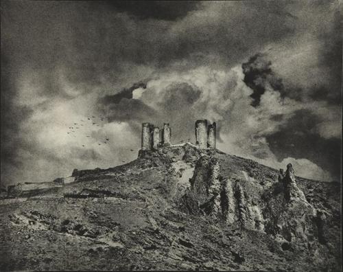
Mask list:
[[[189,213],[214,215],[228,224],[264,230],[261,208],[245,191],[249,185],[222,177],[218,159],[207,155],[198,159],[190,183],[191,188],[182,197]]]

